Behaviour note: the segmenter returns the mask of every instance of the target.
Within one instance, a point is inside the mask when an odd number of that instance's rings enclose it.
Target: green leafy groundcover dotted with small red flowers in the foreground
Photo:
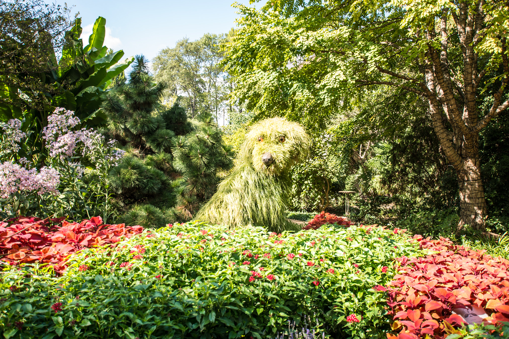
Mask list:
[[[395,257],[422,251],[382,228],[168,226],[84,249],[61,276],[6,268],[0,330],[6,338],[260,338],[316,313],[325,335],[385,337],[378,285],[391,280]]]

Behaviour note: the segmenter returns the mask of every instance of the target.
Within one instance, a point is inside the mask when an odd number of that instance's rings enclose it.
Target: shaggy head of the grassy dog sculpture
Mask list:
[[[260,172],[280,175],[309,153],[304,128],[284,118],[269,118],[254,124],[241,148],[241,159]]]

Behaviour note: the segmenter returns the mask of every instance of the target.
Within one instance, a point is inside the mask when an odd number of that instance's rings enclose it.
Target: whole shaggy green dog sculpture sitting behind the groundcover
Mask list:
[[[269,231],[298,230],[285,210],[290,190],[289,171],[309,153],[309,136],[296,122],[265,119],[249,130],[239,154],[240,163],[196,214],[195,220]]]

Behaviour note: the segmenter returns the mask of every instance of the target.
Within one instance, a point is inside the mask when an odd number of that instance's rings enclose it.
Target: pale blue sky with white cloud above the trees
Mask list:
[[[82,19],[83,45],[88,44],[93,23],[102,16],[106,19],[104,45],[116,51],[123,49],[126,57],[144,54],[149,59],[184,37],[196,40],[205,33],[228,33],[238,17],[237,9],[231,7],[234,0],[57,0],[56,4],[65,2],[74,5],[72,13],[79,12]]]

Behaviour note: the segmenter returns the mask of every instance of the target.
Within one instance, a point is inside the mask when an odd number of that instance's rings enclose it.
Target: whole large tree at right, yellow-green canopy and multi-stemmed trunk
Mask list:
[[[279,91],[287,106],[313,99],[330,107],[374,85],[420,96],[457,173],[460,225],[484,227],[478,140],[509,106],[506,3],[282,0],[260,11],[238,7],[244,16],[225,64],[240,99],[274,108]]]

